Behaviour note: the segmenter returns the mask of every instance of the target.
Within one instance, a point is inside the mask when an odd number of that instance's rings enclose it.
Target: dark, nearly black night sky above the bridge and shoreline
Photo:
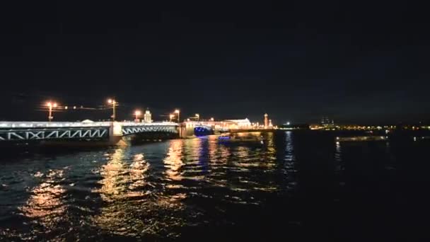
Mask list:
[[[249,117],[276,123],[428,120],[429,21],[407,1],[100,1],[2,6],[0,120],[42,102],[120,118]],[[106,111],[57,113],[97,119]],[[260,119],[260,120],[257,120]]]

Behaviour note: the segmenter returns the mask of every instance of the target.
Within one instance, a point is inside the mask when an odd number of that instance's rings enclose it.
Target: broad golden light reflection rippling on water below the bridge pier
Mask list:
[[[127,162],[127,157],[132,158],[131,163]],[[174,219],[152,223],[153,211],[176,207],[165,197],[149,196],[153,192],[153,186],[146,186],[149,168],[144,154],[130,155],[124,148],[115,150],[110,161],[101,168],[102,188],[95,190],[107,202],[100,214],[93,217],[100,229],[109,234],[140,236],[160,234],[173,226]]]

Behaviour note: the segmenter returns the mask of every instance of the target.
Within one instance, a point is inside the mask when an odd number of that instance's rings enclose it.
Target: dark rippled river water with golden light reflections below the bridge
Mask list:
[[[209,136],[4,156],[0,241],[426,236],[430,142],[264,135],[263,145]]]

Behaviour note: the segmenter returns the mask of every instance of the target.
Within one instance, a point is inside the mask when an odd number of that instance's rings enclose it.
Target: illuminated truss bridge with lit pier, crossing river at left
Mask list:
[[[119,140],[145,133],[178,134],[175,122],[0,122],[0,142],[31,140]]]

